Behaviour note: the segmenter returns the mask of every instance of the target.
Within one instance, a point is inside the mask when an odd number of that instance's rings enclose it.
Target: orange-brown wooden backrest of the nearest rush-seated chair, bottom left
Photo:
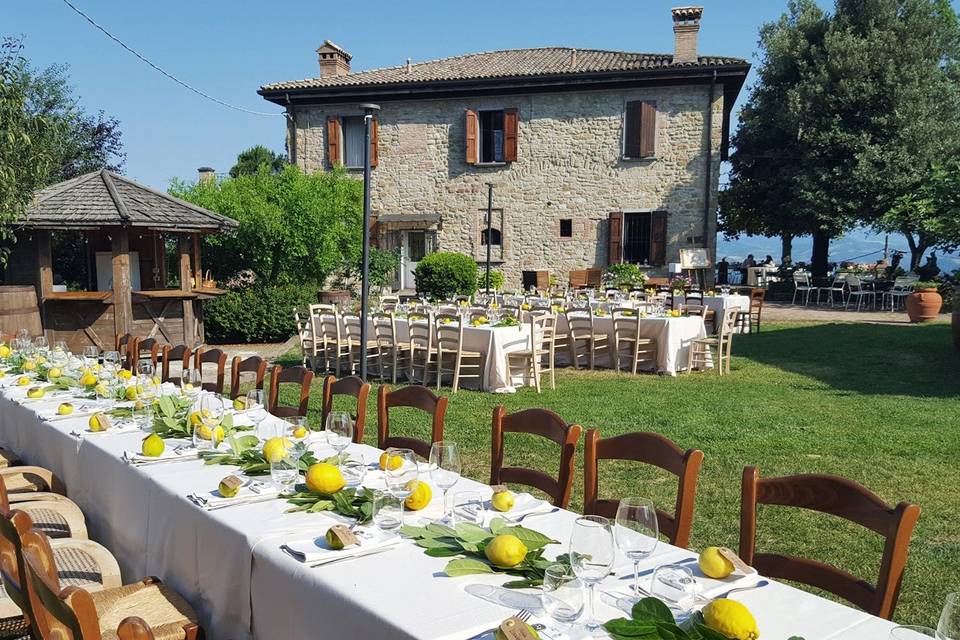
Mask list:
[[[22,536],[23,565],[37,635],[43,640],[99,640],[100,622],[90,594],[60,589],[53,551],[36,529]]]

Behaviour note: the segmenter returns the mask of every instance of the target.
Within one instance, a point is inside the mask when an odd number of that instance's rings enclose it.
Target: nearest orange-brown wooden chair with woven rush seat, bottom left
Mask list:
[[[117,628],[131,615],[141,618],[152,634],[141,637],[164,640],[203,637],[193,607],[159,580],[146,578],[93,592],[63,587],[47,537],[31,529],[23,534],[22,540],[27,592],[40,640],[117,637]]]

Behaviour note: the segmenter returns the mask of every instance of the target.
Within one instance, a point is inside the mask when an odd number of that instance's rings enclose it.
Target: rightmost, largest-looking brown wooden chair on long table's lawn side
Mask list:
[[[876,585],[817,560],[779,553],[757,553],[757,505],[819,511],[849,520],[885,540]],[[740,557],[763,576],[800,582],[829,591],[867,613],[893,617],[920,507],[891,507],[862,485],[838,476],[810,474],[761,478],[757,467],[743,470],[740,498]],[[782,538],[782,536],[781,536]]]

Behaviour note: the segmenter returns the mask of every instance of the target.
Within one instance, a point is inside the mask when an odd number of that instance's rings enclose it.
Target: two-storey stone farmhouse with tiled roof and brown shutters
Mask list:
[[[720,162],[750,69],[699,55],[702,14],[673,10],[672,54],[544,47],[353,72],[327,40],[319,77],[259,93],[287,108],[290,159],[311,172],[362,174],[360,105],[380,105],[371,231],[400,250],[397,288],[414,287],[425,254],[482,262],[488,241],[508,288],[621,261],[665,275],[684,248],[715,259]]]

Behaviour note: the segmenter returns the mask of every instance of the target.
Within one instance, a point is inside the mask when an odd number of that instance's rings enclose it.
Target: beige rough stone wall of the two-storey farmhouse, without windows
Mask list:
[[[485,257],[480,230],[487,189],[503,209],[502,269],[509,288],[522,270],[567,272],[607,264],[611,211],[669,213],[667,262],[679,250],[703,246],[703,193],[709,86],[622,91],[386,102],[378,116],[379,165],[374,170],[374,215],[439,213],[438,249]],[[723,121],[723,89],[713,104],[711,211],[716,211]],[[657,157],[621,157],[623,113],[630,100],[657,102]],[[465,162],[466,109],[520,111],[517,162],[475,166]],[[300,109],[296,163],[328,168],[328,115],[353,115],[355,105]],[[496,216],[495,216],[496,218]],[[560,237],[560,220],[573,221],[573,237]],[[716,217],[707,234],[714,258]],[[699,238],[698,238],[699,239]],[[496,254],[496,252],[494,252]],[[663,273],[663,269],[655,271]]]

